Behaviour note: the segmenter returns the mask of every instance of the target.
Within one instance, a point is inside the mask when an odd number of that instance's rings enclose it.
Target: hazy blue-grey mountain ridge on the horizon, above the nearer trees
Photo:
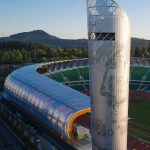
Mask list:
[[[71,47],[71,48],[87,47],[88,45],[87,39],[78,39],[78,40],[61,39],[56,36],[52,36],[42,30],[23,32],[11,35],[9,37],[0,38],[0,42],[6,41],[28,41],[46,44],[52,47]],[[147,47],[149,43],[150,40],[132,38],[132,48]]]

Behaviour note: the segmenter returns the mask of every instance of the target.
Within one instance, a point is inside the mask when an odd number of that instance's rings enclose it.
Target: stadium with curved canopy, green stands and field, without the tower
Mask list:
[[[91,142],[88,59],[22,67],[5,81],[4,103],[78,148]],[[150,59],[132,58],[128,149],[150,148]]]

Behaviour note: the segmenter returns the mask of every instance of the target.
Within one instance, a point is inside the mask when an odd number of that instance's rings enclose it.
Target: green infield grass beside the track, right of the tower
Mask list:
[[[129,117],[129,135],[150,142],[150,98],[130,94]]]

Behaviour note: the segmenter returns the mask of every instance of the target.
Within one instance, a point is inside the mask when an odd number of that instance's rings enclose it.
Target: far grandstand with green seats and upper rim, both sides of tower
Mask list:
[[[50,64],[46,75],[75,90],[89,94],[88,59]],[[132,58],[130,67],[130,92],[150,93],[150,59]]]

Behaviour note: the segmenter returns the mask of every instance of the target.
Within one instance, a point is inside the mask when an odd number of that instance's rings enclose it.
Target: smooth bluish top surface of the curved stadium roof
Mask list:
[[[38,73],[36,71],[38,66],[20,68],[11,76],[74,111],[90,107],[88,96]]]

